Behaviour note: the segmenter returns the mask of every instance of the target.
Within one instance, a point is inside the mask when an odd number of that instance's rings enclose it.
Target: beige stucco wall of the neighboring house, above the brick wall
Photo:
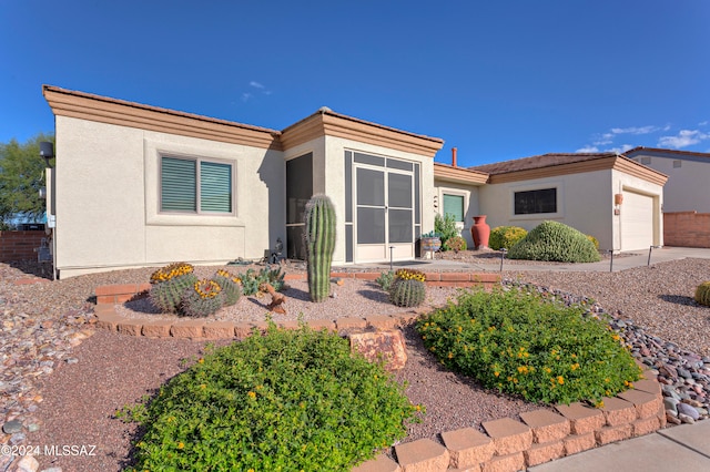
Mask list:
[[[642,154],[635,154],[633,161],[640,162]],[[710,161],[692,161],[689,158],[662,157],[648,155],[648,165],[668,175],[663,187],[663,212],[699,212],[710,213]],[[680,167],[673,167],[673,161],[680,161]]]

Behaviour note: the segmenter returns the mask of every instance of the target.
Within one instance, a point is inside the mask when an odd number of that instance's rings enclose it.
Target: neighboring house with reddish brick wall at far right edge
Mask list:
[[[710,153],[635,147],[629,158],[668,175],[663,186],[663,240],[710,247]]]

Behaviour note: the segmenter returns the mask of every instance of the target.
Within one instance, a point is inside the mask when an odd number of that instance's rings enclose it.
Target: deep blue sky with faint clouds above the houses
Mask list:
[[[326,105],[459,165],[710,152],[710,1],[0,0],[0,142],[41,85],[282,130]]]

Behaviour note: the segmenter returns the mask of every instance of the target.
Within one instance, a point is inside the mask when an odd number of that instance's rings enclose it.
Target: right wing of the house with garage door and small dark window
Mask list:
[[[530,230],[552,219],[595,236],[602,250],[663,244],[660,208],[667,177],[615,153],[545,154],[467,170],[435,165],[434,175],[444,195],[454,195],[471,175],[475,184],[465,198],[491,227]]]

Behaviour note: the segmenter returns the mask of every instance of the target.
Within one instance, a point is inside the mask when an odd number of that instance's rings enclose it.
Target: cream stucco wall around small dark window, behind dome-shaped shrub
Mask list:
[[[514,193],[539,188],[557,188],[557,213],[514,215]],[[545,220],[569,225],[599,240],[599,248],[611,248],[613,193],[611,171],[569,174],[524,182],[488,184],[479,189],[480,213],[490,228],[520,226],[532,229]]]

